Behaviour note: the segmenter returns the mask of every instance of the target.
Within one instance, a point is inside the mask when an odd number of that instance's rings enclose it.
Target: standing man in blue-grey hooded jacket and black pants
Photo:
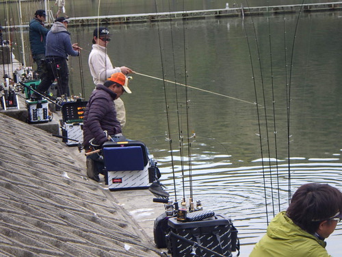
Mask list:
[[[66,58],[68,56],[79,56],[80,47],[77,43],[71,44],[70,33],[66,30],[68,21],[64,17],[55,19],[51,30],[47,34],[46,64],[47,72],[44,73],[42,81],[37,87],[39,93],[49,89],[55,79],[58,82],[57,97],[64,95],[69,97],[69,71]],[[31,99],[41,99],[36,93]]]

